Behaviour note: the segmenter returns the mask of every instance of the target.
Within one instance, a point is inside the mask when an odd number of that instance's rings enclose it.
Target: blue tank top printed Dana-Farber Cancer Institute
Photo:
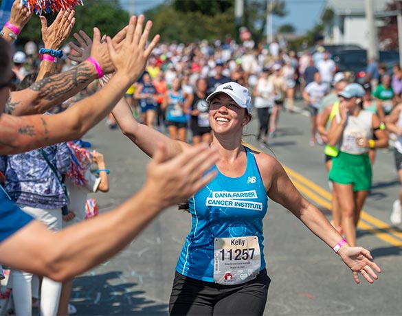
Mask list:
[[[218,175],[189,200],[192,227],[181,250],[176,271],[190,278],[214,282],[214,240],[257,236],[260,270],[263,256],[263,218],[267,192],[252,151],[245,147],[247,167],[241,177]]]

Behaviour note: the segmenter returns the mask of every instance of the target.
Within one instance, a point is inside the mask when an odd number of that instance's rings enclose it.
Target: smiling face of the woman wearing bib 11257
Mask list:
[[[226,93],[214,95],[210,103],[210,126],[213,131],[241,130],[247,124],[247,109],[243,109]]]

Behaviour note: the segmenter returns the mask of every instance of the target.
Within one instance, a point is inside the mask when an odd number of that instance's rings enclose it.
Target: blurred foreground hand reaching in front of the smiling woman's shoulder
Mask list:
[[[216,150],[201,144],[166,161],[166,148],[158,145],[146,168],[144,189],[163,207],[182,203],[216,177],[216,171],[209,170],[218,160]]]

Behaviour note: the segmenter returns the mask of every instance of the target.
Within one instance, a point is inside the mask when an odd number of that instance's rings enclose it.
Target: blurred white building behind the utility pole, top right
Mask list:
[[[324,43],[357,44],[368,47],[368,28],[366,22],[366,0],[327,0],[320,16],[324,24]],[[374,14],[386,10],[386,4],[392,0],[373,0]],[[333,11],[333,19],[325,21],[326,9]],[[377,27],[381,21],[375,20]]]

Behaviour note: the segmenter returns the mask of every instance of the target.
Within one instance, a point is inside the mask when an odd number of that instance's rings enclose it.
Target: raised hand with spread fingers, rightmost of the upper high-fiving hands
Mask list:
[[[144,32],[142,25],[144,24],[144,16],[140,15],[138,19],[131,16],[129,27],[127,28],[126,39],[118,51],[108,36],[107,43],[109,47],[110,58],[115,67],[116,73],[124,74],[130,78],[131,82],[137,80],[144,72],[146,62],[150,53],[159,41],[159,35],[156,35],[146,47],[152,22],[148,21],[145,25]]]

